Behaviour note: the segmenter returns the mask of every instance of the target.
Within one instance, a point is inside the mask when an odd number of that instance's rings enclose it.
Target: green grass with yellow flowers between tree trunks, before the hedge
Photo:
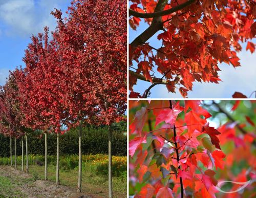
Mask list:
[[[86,155],[83,156],[82,171],[82,191],[95,197],[104,197],[108,195],[108,156],[106,155]],[[77,156],[66,156],[60,158],[60,184],[76,189],[77,186]],[[13,161],[14,162],[14,161]],[[21,169],[21,158],[17,158],[17,169]],[[0,165],[10,163],[10,158],[0,158]],[[54,165],[55,157],[49,157],[48,179],[55,181],[56,167]],[[30,180],[44,180],[44,157],[29,156],[29,174],[32,176]],[[40,164],[40,165],[37,165]],[[114,197],[126,197],[126,157],[113,157],[113,193]],[[12,190],[12,183],[8,178],[0,178],[0,194],[1,190]],[[13,181],[12,181],[13,182]],[[28,182],[28,181],[27,181]],[[6,187],[8,186],[8,188]],[[21,193],[19,191],[13,194]],[[2,193],[4,194],[4,193]],[[20,194],[22,196],[22,193]]]

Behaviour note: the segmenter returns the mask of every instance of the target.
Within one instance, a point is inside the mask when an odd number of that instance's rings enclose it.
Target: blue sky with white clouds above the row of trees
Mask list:
[[[0,85],[4,85],[9,70],[19,65],[32,34],[48,26],[55,29],[54,8],[65,12],[71,0],[0,0]]]

